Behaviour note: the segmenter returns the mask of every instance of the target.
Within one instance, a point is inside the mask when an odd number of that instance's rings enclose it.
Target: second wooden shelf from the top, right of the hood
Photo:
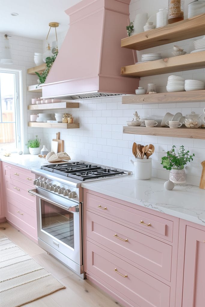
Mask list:
[[[205,51],[121,67],[122,76],[145,77],[204,68]]]

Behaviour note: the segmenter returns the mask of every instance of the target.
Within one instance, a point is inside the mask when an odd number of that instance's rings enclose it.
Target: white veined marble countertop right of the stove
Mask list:
[[[205,190],[195,185],[164,189],[165,180],[134,176],[82,183],[82,187],[205,226]]]

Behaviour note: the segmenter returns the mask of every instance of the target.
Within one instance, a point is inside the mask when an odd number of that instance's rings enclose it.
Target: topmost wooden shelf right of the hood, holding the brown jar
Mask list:
[[[205,34],[205,14],[165,25],[157,29],[125,37],[121,47],[143,50]]]

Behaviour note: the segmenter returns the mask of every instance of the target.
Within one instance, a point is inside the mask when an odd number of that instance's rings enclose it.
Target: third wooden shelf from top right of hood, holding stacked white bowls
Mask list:
[[[145,95],[127,95],[122,97],[123,104],[148,103],[182,103],[205,101],[205,90],[172,93],[157,93]]]

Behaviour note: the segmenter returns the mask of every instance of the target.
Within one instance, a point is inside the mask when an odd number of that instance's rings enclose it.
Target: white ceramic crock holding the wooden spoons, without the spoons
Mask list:
[[[152,158],[136,158],[134,162],[132,161],[132,164],[135,166],[134,175],[136,179],[148,180],[152,177]]]

